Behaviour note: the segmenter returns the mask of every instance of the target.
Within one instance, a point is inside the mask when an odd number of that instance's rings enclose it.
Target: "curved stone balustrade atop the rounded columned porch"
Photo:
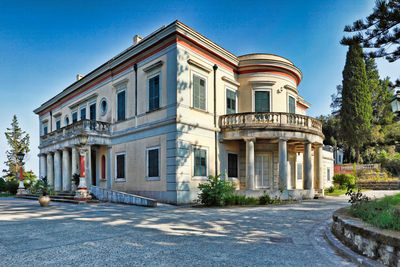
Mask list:
[[[265,128],[299,130],[322,135],[322,123],[314,118],[283,112],[248,112],[220,116],[219,127],[224,129]]]

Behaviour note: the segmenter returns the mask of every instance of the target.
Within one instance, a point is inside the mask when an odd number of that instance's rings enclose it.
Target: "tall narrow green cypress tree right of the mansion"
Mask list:
[[[371,125],[371,92],[368,88],[363,51],[359,44],[351,44],[343,70],[342,106],[340,109],[341,130],[345,143],[356,151],[368,138]]]

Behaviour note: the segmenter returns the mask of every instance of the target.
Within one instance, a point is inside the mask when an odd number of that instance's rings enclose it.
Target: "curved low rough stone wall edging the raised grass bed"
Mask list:
[[[353,251],[387,266],[400,266],[400,233],[382,230],[349,214],[348,208],[333,213],[332,233]]]

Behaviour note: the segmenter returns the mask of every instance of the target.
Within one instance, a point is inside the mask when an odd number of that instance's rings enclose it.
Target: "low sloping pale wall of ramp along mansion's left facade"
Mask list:
[[[141,197],[124,192],[104,189],[98,186],[90,186],[91,193],[100,201],[123,203],[136,206],[157,207],[157,201],[147,197]]]

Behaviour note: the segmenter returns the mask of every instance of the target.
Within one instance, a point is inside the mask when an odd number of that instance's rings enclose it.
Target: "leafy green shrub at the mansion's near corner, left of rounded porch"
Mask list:
[[[200,203],[206,206],[224,206],[226,200],[231,198],[235,186],[232,182],[221,179],[220,175],[210,175],[206,183],[199,184],[199,189]]]

